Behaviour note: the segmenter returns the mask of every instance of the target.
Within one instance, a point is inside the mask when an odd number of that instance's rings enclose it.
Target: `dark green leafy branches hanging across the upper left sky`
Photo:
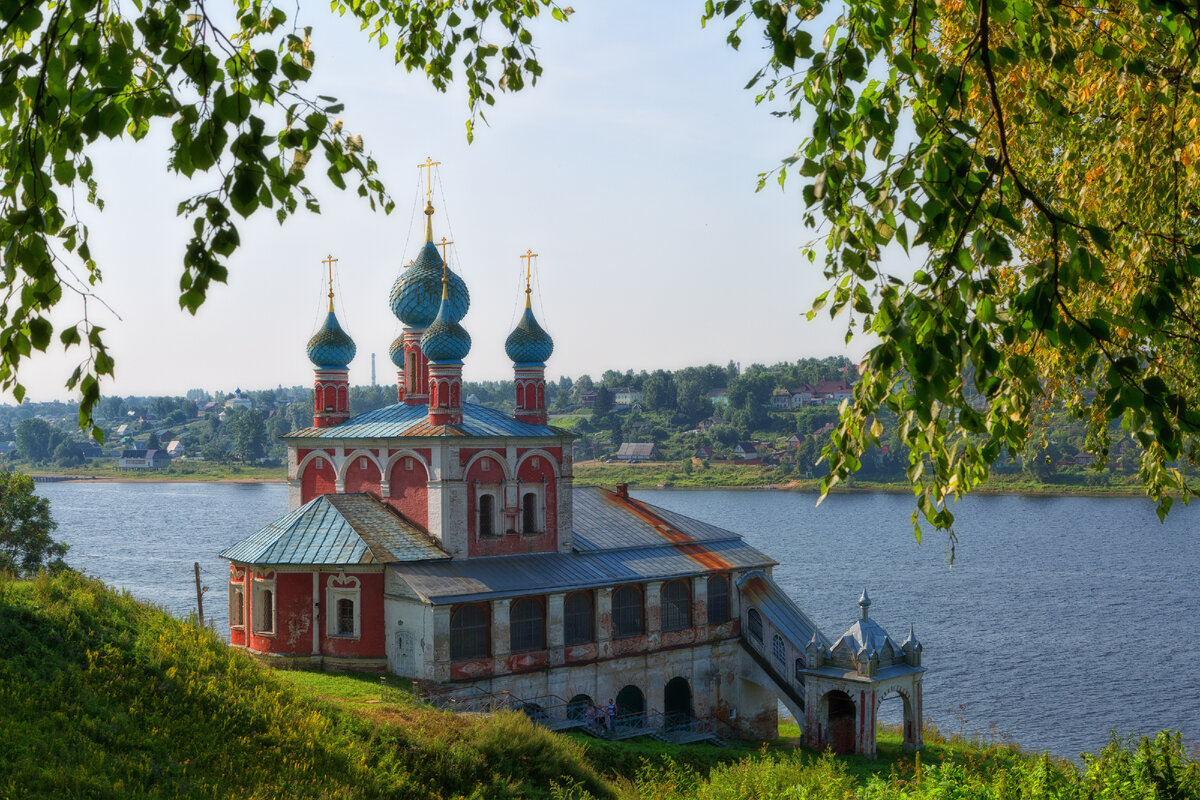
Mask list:
[[[436,88],[461,79],[472,120],[494,102],[497,86],[536,80],[529,24],[547,7],[559,20],[569,13],[550,0],[332,2]],[[178,206],[192,223],[179,301],[193,313],[212,282],[226,279],[240,218],[274,213],[282,223],[319,210],[314,154],[335,186],[391,209],[362,138],[337,118],[342,104],[306,94],[316,62],[311,28],[271,2],[234,0],[214,10],[197,0],[29,0],[5,7],[0,387],[20,401],[22,360],[58,335],[84,353],[67,379],[82,395],[79,423],[103,435],[95,416],[98,379],[113,374],[113,357],[89,317],[101,302],[102,265],[88,222],[103,207],[92,154],[106,139],[142,140],[155,125],[169,128],[166,167],[196,184]],[[49,312],[65,293],[79,299],[80,319],[55,331]]]

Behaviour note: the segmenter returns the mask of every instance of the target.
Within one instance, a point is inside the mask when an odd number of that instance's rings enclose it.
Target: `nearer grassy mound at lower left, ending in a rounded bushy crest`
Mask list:
[[[412,705],[412,704],[409,704]],[[523,716],[341,710],[73,573],[0,577],[0,798],[613,796]]]

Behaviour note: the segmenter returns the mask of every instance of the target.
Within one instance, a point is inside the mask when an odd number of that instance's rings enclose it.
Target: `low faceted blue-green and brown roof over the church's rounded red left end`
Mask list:
[[[229,547],[241,564],[388,564],[449,559],[437,541],[370,494],[323,494]]]

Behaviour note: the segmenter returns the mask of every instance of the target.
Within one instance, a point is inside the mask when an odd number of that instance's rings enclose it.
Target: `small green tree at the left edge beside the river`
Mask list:
[[[0,572],[19,577],[65,566],[67,546],[50,537],[55,528],[50,501],[34,492],[34,479],[0,470]]]

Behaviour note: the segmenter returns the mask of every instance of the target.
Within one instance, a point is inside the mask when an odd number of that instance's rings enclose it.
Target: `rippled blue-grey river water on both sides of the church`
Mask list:
[[[227,626],[216,553],[287,510],[282,485],[47,483],[68,563],[176,614]],[[946,730],[1008,735],[1062,756],[1109,730],[1182,730],[1200,740],[1200,509],[1159,524],[1150,503],[1117,498],[970,498],[946,537],[918,546],[906,495],[641,491],[648,503],[742,534],[780,564],[775,577],[830,638],[871,615],[925,645],[925,710]]]

